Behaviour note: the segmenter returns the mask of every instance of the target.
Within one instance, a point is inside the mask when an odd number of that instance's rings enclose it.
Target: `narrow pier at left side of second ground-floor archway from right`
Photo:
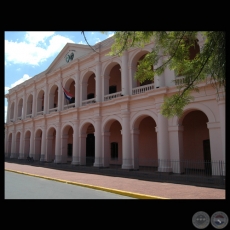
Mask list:
[[[139,129],[131,131],[133,169],[139,169]]]

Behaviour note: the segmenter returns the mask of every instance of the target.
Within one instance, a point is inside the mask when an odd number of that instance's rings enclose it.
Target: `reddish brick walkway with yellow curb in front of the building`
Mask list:
[[[8,162],[5,162],[5,170],[77,184],[139,199],[226,199],[225,189],[69,172]]]

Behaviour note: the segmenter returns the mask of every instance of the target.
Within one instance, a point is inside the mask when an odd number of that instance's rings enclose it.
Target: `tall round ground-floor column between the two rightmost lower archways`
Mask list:
[[[160,113],[160,105],[157,105],[157,148],[158,148],[158,171],[171,172],[172,167],[170,164],[169,153],[169,133],[168,133],[168,120]]]

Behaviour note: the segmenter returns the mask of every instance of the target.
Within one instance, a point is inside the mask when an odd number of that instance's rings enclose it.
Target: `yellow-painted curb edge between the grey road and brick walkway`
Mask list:
[[[86,188],[102,190],[102,191],[106,191],[106,192],[116,193],[116,194],[119,194],[119,195],[138,198],[138,199],[161,199],[161,200],[168,200],[169,199],[169,198],[165,198],[165,197],[143,195],[143,194],[140,194],[140,193],[126,192],[126,191],[122,191],[122,190],[110,189],[110,188],[105,188],[105,187],[100,187],[100,186],[95,186],[95,185],[89,185],[89,184],[83,184],[83,183],[79,183],[79,182],[60,180],[60,179],[56,179],[56,178],[40,176],[40,175],[36,175],[36,174],[20,172],[20,171],[11,170],[11,169],[5,169],[5,171],[24,174],[24,175],[27,175],[27,176],[39,177],[39,178],[43,178],[43,179],[47,179],[47,180],[54,180],[54,181],[58,181],[58,182],[66,183],[66,184],[78,185],[78,186],[82,186],[82,187],[86,187]]]

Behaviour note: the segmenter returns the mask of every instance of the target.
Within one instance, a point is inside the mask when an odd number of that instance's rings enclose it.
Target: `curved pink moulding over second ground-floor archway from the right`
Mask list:
[[[130,119],[130,123],[131,123],[131,129],[135,130],[138,129],[139,124],[141,122],[141,120],[145,117],[152,117],[153,120],[156,122],[157,124],[157,114],[154,113],[151,110],[144,110],[144,111],[139,111],[137,113],[135,113],[131,119]]]

